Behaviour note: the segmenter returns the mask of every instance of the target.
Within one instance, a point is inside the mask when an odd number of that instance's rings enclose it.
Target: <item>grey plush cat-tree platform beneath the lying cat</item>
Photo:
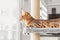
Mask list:
[[[25,34],[40,33],[41,36],[60,37],[60,28],[25,28]]]

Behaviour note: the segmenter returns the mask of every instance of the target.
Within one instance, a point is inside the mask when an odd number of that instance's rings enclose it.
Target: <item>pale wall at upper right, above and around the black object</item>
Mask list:
[[[60,14],[60,0],[48,0],[48,14],[52,13],[52,8],[56,8],[56,13]]]

